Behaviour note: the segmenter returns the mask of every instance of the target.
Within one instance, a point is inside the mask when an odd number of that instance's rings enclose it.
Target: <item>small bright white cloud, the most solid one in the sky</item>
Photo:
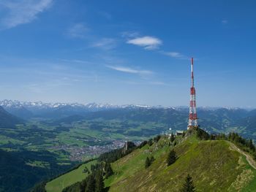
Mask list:
[[[140,47],[144,47],[146,50],[154,50],[162,45],[162,41],[156,37],[137,37],[135,39],[129,39],[127,41],[128,44],[138,45]]]

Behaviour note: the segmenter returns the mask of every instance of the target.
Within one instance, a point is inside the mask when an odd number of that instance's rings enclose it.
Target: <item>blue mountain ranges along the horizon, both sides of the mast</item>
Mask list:
[[[4,100],[0,101],[3,120],[18,124],[21,119],[48,118],[56,123],[72,123],[79,120],[121,120],[127,122],[162,123],[174,130],[187,127],[188,107],[151,107],[148,105],[112,105],[78,103],[43,103]],[[6,110],[7,112],[4,112]],[[256,110],[222,107],[198,107],[200,126],[210,132],[236,131],[244,137],[253,137],[256,128]],[[18,117],[18,118],[16,118]],[[1,117],[0,117],[1,118]],[[5,122],[3,121],[2,122]],[[166,128],[165,128],[166,129]],[[161,131],[161,130],[158,130]],[[163,131],[163,130],[162,130]],[[142,133],[142,132],[141,132]],[[149,134],[149,133],[148,133]],[[152,133],[153,134],[153,133]],[[154,134],[157,134],[156,130]],[[136,135],[140,133],[136,132]]]

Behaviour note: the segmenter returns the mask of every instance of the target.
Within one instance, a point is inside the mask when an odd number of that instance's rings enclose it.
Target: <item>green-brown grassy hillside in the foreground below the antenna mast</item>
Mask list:
[[[181,138],[180,138],[181,139]],[[167,166],[169,139],[144,146],[111,166],[115,174],[105,180],[109,191],[178,191],[191,174],[197,191],[253,191],[256,171],[244,155],[232,150],[227,141],[200,141],[189,137],[173,147],[178,160]],[[156,160],[145,169],[145,159]]]

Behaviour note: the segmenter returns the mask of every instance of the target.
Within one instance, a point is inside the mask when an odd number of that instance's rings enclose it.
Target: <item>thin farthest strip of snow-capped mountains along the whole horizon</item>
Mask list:
[[[162,106],[149,106],[143,104],[125,104],[125,105],[114,105],[114,104],[79,104],[79,103],[44,103],[42,101],[17,101],[17,100],[3,100],[0,101],[0,106],[7,112],[15,115],[19,118],[67,118],[71,115],[85,115],[89,112],[100,112],[109,110],[176,110],[177,112],[187,112],[188,107],[162,107]],[[216,112],[219,110],[233,112],[236,116],[254,116],[256,110],[247,110],[241,108],[226,108],[226,107],[198,107],[198,112]]]

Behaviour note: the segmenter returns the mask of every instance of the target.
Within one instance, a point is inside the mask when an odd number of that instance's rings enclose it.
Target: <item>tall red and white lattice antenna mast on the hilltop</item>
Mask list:
[[[190,88],[190,104],[189,104],[189,128],[197,128],[197,110],[195,103],[195,88],[194,88],[194,74],[193,74],[193,58],[191,58],[191,88]]]

